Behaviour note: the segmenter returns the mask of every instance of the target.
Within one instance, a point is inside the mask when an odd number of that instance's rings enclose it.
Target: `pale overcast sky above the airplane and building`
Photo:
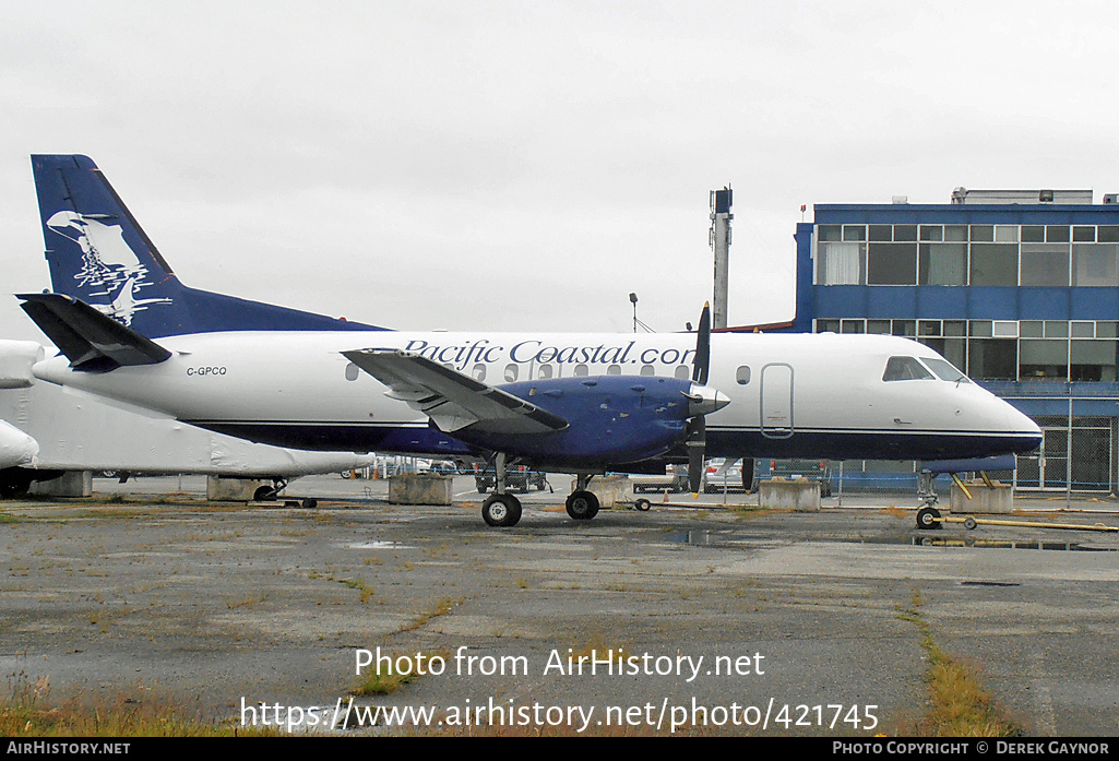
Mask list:
[[[1119,191],[1113,2],[0,0],[0,278],[86,153],[195,288],[406,329],[789,319],[800,205]],[[41,340],[0,297],[0,337]]]

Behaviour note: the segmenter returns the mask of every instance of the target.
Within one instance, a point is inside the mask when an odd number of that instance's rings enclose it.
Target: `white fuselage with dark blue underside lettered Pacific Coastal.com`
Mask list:
[[[65,357],[37,377],[281,447],[469,454],[342,351],[420,354],[489,385],[572,376],[687,377],[694,333],[261,331],[168,336],[171,357],[110,373]],[[923,372],[890,378],[892,358]],[[939,365],[937,364],[939,360]],[[933,460],[1022,453],[1037,425],[915,341],[833,333],[714,333],[707,457]],[[896,375],[896,374],[895,374]]]

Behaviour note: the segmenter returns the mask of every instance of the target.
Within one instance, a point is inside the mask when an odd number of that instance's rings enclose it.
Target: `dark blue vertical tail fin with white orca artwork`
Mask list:
[[[379,330],[187,288],[104,173],[85,156],[32,156],[50,282],[135,332]]]

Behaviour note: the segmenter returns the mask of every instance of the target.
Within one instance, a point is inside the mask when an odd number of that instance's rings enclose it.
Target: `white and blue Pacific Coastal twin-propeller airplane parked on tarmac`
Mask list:
[[[56,293],[20,298],[64,355],[37,377],[284,447],[492,455],[490,525],[520,518],[514,461],[576,473],[567,511],[591,518],[593,475],[680,449],[941,460],[1041,441],[902,338],[711,335],[706,317],[695,336],[403,332],[188,289],[90,159],[32,166]]]

